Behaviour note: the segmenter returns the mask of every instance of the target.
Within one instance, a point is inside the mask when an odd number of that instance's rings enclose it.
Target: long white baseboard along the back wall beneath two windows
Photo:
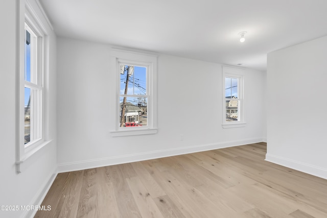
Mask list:
[[[201,144],[199,146],[190,146],[190,147],[183,147],[183,148],[176,148],[176,149],[167,149],[167,150],[152,151],[152,152],[145,152],[145,153],[138,153],[138,154],[100,158],[94,160],[62,163],[62,164],[58,164],[58,172],[63,173],[63,172],[79,171],[88,168],[130,163],[130,162],[142,161],[142,160],[150,160],[155,158],[222,149],[222,148],[228,148],[233,146],[241,146],[243,144],[258,143],[262,141],[263,138],[249,138],[249,139],[238,140],[238,141],[226,141],[226,142],[218,142],[212,144]]]

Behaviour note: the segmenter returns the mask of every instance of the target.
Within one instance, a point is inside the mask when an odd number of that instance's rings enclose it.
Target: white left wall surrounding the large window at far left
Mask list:
[[[49,187],[49,182],[56,173],[56,37],[51,32],[50,54],[50,137],[54,139],[48,146],[43,147],[34,156],[21,165],[22,172],[16,173],[15,143],[16,133],[16,19],[18,1],[2,1],[0,7],[1,48],[1,152],[0,152],[0,205],[17,205],[18,211],[0,211],[0,217],[29,216],[34,211],[21,211],[20,206],[40,204]],[[30,1],[32,4],[34,1]],[[38,12],[37,9],[35,9]],[[23,14],[24,16],[24,14]]]

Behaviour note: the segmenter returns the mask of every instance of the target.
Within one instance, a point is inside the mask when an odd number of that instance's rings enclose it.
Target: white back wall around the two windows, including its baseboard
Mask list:
[[[246,70],[247,126],[222,129],[222,66],[159,55],[158,133],[112,137],[111,46],[61,37],[57,43],[59,171],[263,140],[265,72]]]

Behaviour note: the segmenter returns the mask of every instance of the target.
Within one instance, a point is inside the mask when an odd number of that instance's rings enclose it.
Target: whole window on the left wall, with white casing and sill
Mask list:
[[[49,35],[51,26],[26,1],[19,1],[19,34],[17,34],[18,56],[16,76],[17,118],[16,171],[21,172],[21,164],[42,147],[49,144],[49,129],[44,120],[49,118]],[[43,21],[42,21],[43,20]],[[45,22],[44,22],[45,21]],[[45,86],[44,86],[45,85]]]

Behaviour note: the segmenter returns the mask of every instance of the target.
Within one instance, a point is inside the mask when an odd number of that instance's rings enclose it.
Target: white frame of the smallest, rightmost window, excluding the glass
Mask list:
[[[245,127],[245,111],[244,111],[244,69],[236,67],[223,66],[222,69],[222,127],[223,128],[237,128]],[[225,94],[225,78],[238,79],[238,120],[227,122],[226,121],[226,94]]]

